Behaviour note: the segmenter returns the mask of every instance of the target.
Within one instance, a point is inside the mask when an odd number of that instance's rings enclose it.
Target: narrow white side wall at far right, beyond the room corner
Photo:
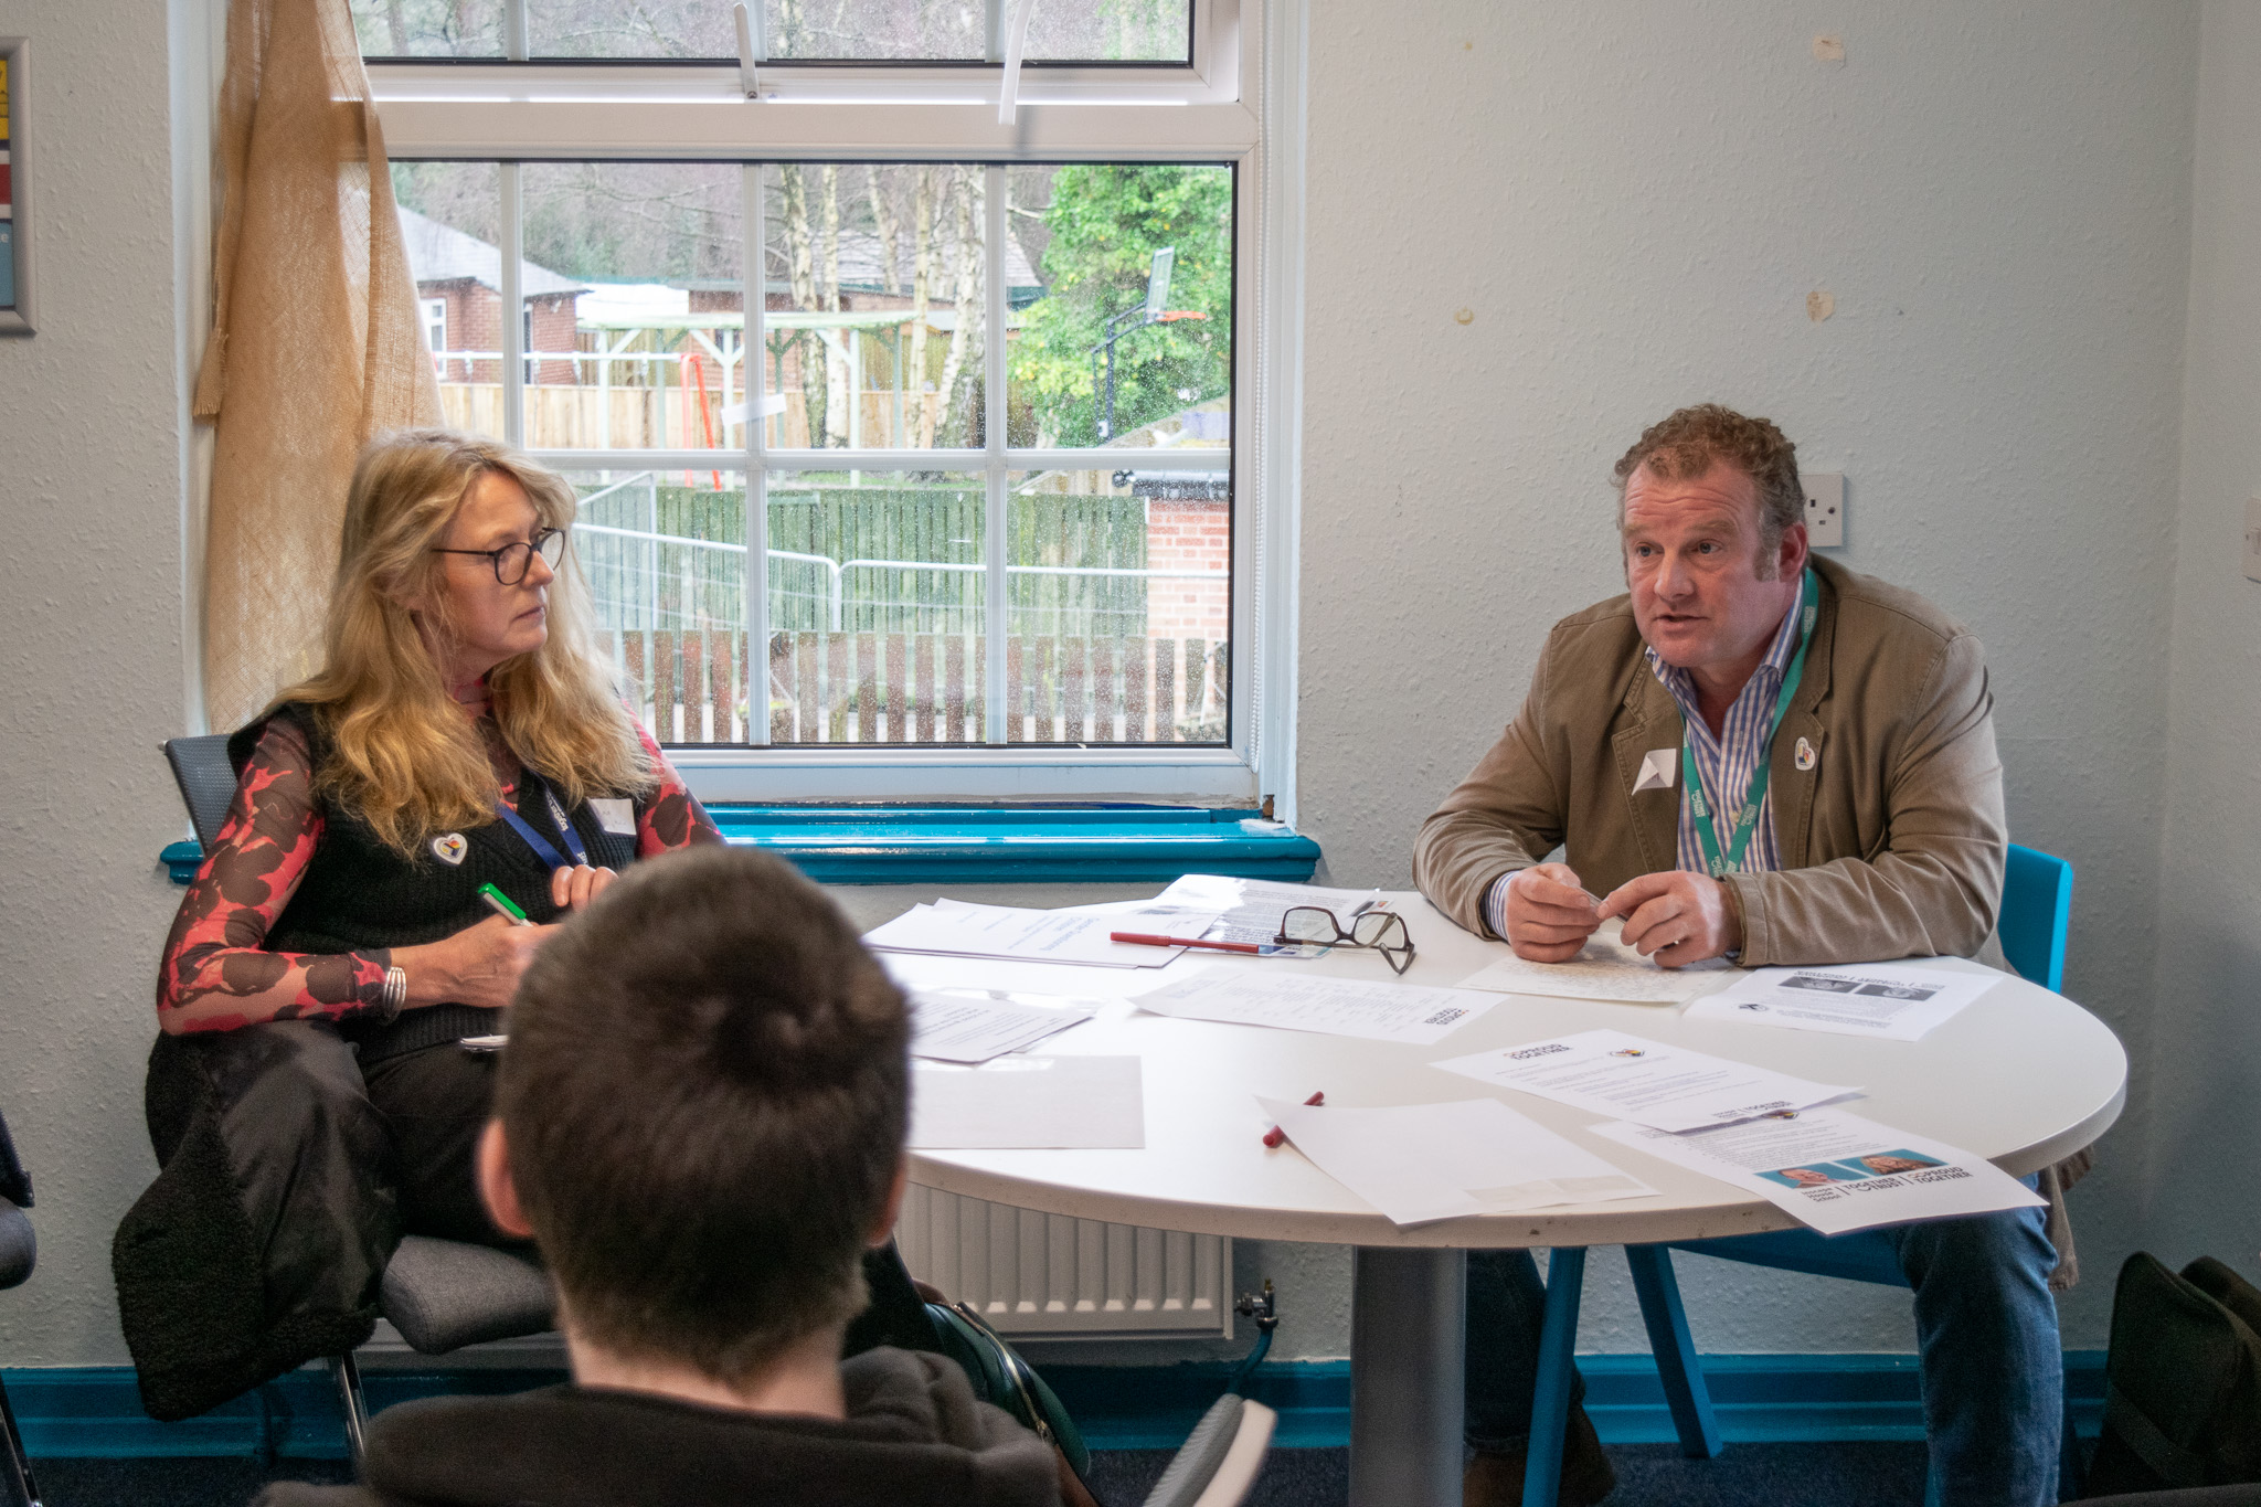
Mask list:
[[[2191,337],[2168,691],[2166,863],[2150,1035],[2146,1243],[2254,1272],[2261,1204],[2261,7],[2204,7]]]

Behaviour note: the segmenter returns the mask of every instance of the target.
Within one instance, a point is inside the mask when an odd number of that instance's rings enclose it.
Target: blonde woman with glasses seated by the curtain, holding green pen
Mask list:
[[[235,804],[158,972],[163,1173],[115,1249],[156,1417],[362,1342],[402,1234],[506,1243],[464,1037],[622,865],[721,840],[592,653],[574,508],[493,441],[371,443],[323,669],[228,741]]]

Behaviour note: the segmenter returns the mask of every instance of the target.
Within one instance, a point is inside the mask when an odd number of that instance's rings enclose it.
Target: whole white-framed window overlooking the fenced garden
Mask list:
[[[448,420],[708,798],[1284,789],[1241,11],[1036,7],[1006,127],[1004,9],[766,0],[748,102],[726,5],[353,2]]]

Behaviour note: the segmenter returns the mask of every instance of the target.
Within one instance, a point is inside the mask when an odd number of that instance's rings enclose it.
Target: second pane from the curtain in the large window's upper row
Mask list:
[[[744,192],[726,163],[527,163],[531,450],[744,450]]]

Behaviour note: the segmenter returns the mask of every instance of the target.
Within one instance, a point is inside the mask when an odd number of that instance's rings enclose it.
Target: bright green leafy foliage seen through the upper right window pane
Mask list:
[[[1038,443],[1099,443],[1092,348],[1110,314],[1146,300],[1146,273],[1162,246],[1178,251],[1169,307],[1205,319],[1149,325],[1115,343],[1115,434],[1230,389],[1232,169],[1060,167],[1045,226],[1047,296],[1029,305],[1013,341],[1013,382],[1036,404]]]

